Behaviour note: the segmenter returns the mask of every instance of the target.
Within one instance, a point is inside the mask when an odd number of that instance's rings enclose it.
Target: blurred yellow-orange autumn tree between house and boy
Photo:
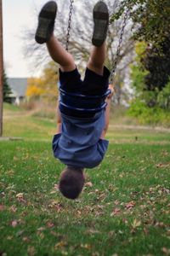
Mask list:
[[[28,79],[26,95],[29,98],[41,99],[46,101],[56,100],[58,96],[58,74],[56,63],[50,61],[42,72],[40,78]]]

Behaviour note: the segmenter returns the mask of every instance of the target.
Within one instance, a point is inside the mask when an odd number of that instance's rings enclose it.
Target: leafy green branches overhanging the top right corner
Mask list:
[[[127,8],[131,11],[134,25],[140,25],[135,38],[159,45],[169,32],[169,0],[122,0],[111,21],[119,19]]]

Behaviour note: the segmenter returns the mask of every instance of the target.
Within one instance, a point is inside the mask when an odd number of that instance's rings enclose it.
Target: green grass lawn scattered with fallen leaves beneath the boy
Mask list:
[[[54,120],[5,108],[0,255],[170,255],[170,133],[111,126],[76,201],[59,194]],[[22,138],[22,139],[21,139]]]

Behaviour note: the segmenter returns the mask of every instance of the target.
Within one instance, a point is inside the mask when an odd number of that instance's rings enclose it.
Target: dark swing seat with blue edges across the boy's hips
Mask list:
[[[66,92],[59,88],[59,110],[65,113],[65,110],[75,110],[79,113],[97,113],[106,107],[106,97],[111,94],[111,90],[105,91],[101,96],[87,96],[78,93]]]

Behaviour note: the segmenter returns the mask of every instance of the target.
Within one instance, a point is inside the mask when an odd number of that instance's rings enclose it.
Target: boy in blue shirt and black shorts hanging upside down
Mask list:
[[[104,2],[95,4],[93,49],[83,80],[72,55],[54,37],[56,13],[54,1],[42,7],[35,38],[38,44],[47,44],[49,55],[59,63],[60,88],[67,93],[84,96],[102,96],[108,88],[111,89],[106,98],[106,108],[97,113],[81,113],[72,108],[60,111],[58,106],[58,130],[54,135],[53,150],[54,156],[66,166],[60,176],[59,190],[65,197],[76,199],[85,182],[84,168],[98,166],[109,143],[105,140],[105,133],[109,125],[113,87],[109,85],[110,72],[104,66],[109,13]]]

